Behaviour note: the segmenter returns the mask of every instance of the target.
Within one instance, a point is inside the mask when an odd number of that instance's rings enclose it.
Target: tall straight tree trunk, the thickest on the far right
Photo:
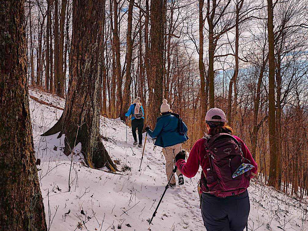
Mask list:
[[[275,116],[275,57],[274,57],[274,25],[273,1],[267,0],[267,31],[269,40],[269,141],[270,141],[270,172],[268,185],[276,187],[278,184],[278,153],[276,138]]]

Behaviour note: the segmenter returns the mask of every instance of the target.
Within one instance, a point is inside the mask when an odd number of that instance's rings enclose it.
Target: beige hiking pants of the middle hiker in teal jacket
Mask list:
[[[168,180],[171,176],[172,180],[170,181],[171,184],[175,183],[175,177],[173,171],[173,166],[175,166],[174,158],[175,156],[182,150],[182,144],[176,144],[170,147],[163,148],[163,153],[166,158],[166,174]],[[179,176],[182,174],[179,169],[176,170],[176,175]]]

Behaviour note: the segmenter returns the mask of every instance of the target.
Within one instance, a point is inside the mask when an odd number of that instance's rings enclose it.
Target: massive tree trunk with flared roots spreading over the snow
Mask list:
[[[102,36],[103,0],[73,1],[73,33],[69,86],[63,114],[44,136],[65,134],[64,153],[81,142],[85,162],[91,168],[107,166],[115,171],[99,135],[99,44]],[[80,128],[78,129],[78,126]],[[78,129],[78,133],[77,133]]]

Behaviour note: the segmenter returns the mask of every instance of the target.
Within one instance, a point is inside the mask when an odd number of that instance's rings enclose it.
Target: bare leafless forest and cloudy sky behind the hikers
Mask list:
[[[63,98],[78,56],[74,1],[25,2],[29,84]],[[91,65],[101,115],[125,120],[140,96],[153,128],[165,98],[188,125],[190,149],[203,136],[206,111],[219,107],[257,160],[259,179],[307,195],[308,1],[88,2],[99,30]]]

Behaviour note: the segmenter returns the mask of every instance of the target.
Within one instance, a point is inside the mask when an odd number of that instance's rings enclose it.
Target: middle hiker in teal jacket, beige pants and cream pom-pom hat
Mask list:
[[[170,186],[174,187],[175,177],[172,172],[174,166],[174,158],[182,150],[182,143],[188,140],[187,126],[180,118],[180,115],[172,113],[167,99],[163,100],[160,106],[161,116],[157,118],[156,125],[152,131],[149,126],[145,128],[148,135],[156,138],[155,145],[163,148],[166,158],[166,174],[168,180],[172,177]],[[179,178],[179,185],[184,184],[183,174],[180,170],[176,171]]]

